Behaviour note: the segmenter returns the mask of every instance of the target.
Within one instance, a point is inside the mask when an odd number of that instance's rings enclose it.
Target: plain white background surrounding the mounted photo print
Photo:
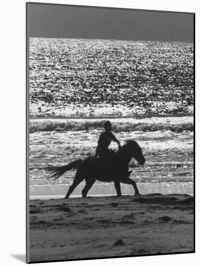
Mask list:
[[[43,0],[36,2],[62,3],[76,5],[92,5],[121,7],[134,9],[150,9],[179,12],[196,13],[196,29],[200,31],[199,14],[200,8],[197,0]],[[20,260],[14,258],[11,254],[25,254],[25,169],[26,169],[26,94],[25,94],[25,0],[4,0],[1,2],[1,82],[0,82],[0,114],[1,114],[1,209],[0,209],[0,251],[1,264],[3,266],[22,264]],[[199,80],[198,80],[198,59],[200,40],[198,30],[196,30],[196,96],[199,97]],[[196,117],[200,113],[198,100],[196,100]],[[199,125],[196,125],[196,134],[198,138]],[[198,150],[199,141],[196,138],[196,149]],[[199,154],[196,156],[197,166]],[[199,187],[199,171],[196,173],[196,187]],[[88,266],[95,263],[96,265],[109,264],[126,264],[131,265],[154,265],[169,266],[179,264],[188,266],[189,264],[198,265],[200,261],[200,245],[198,238],[200,230],[199,195],[196,193],[196,254],[181,255],[163,255],[155,257],[135,257],[120,258],[107,260],[77,261],[77,262],[59,262],[59,265],[82,265]],[[56,265],[58,263],[51,263]],[[40,264],[47,265],[47,264]]]

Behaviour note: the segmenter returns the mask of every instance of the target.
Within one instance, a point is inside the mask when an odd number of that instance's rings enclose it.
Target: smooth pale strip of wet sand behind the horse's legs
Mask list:
[[[79,184],[70,197],[82,197],[82,190],[85,182]],[[64,198],[69,190],[70,184],[67,185],[48,185],[48,186],[30,186],[30,199],[59,199]],[[193,195],[194,186],[192,182],[187,183],[137,183],[141,194],[189,194]],[[103,192],[103,194],[102,194]],[[133,187],[128,184],[121,184],[122,195],[134,195]],[[115,196],[116,190],[114,183],[95,183],[89,190],[88,196]]]

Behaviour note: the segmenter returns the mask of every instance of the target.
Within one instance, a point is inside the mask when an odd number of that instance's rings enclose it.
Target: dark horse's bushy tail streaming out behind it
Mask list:
[[[47,164],[48,166],[45,168],[47,171],[50,171],[53,173],[53,175],[51,177],[47,177],[47,178],[52,178],[54,177],[54,182],[56,181],[56,179],[60,176],[62,176],[65,172],[71,170],[71,169],[77,169],[79,164],[81,163],[81,159],[76,160],[72,163],[66,164],[64,166],[53,166],[50,164]]]

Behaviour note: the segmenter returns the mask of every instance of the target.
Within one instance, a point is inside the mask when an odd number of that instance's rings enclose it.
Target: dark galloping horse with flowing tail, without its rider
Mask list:
[[[127,140],[118,151],[112,156],[112,160],[101,162],[100,159],[95,159],[90,156],[86,159],[78,159],[72,163],[64,166],[48,165],[46,168],[48,171],[53,172],[54,181],[65,172],[76,169],[76,174],[71,184],[65,199],[69,198],[73,190],[85,179],[86,185],[82,191],[82,196],[85,198],[87,192],[91,189],[96,180],[111,182],[114,181],[114,186],[118,197],[121,197],[120,182],[130,184],[135,190],[135,195],[139,194],[137,185],[134,180],[129,178],[129,163],[134,158],[138,163],[144,164],[145,159],[143,156],[142,148],[134,140]],[[100,162],[99,162],[100,161]]]

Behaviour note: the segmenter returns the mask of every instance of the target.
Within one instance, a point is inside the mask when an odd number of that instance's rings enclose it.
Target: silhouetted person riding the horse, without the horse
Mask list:
[[[100,134],[99,140],[98,140],[98,146],[96,148],[96,154],[95,158],[99,156],[100,158],[107,158],[109,155],[109,145],[111,144],[111,141],[113,140],[118,144],[118,148],[121,147],[120,142],[116,139],[114,134],[112,133],[112,124],[110,121],[106,121],[103,124],[103,127],[105,128],[105,131]]]

